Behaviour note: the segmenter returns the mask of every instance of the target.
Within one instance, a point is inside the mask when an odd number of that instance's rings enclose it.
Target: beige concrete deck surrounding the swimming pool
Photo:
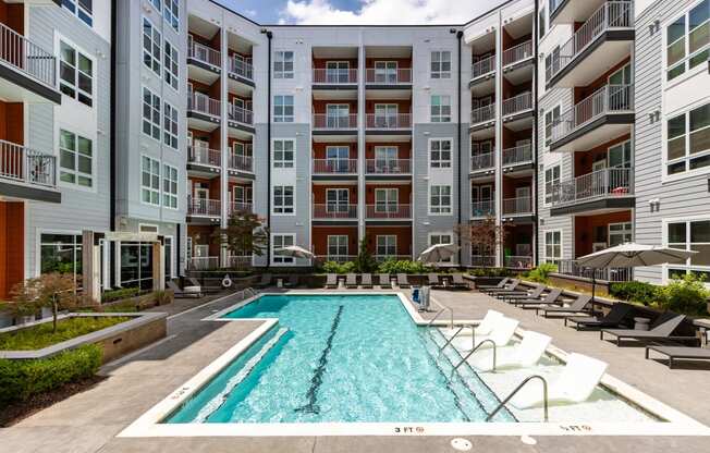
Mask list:
[[[363,291],[363,290],[360,290]],[[329,291],[330,292],[330,291]],[[339,292],[346,293],[345,290]],[[375,291],[382,292],[382,291]],[[408,291],[404,291],[408,294]],[[609,372],[659,401],[710,425],[710,367],[699,364],[669,369],[646,360],[639,347],[616,347],[596,332],[577,332],[561,320],[536,317],[475,292],[434,291],[457,319],[477,319],[495,308],[521,320],[524,329],[547,333],[556,346],[608,362]],[[9,452],[453,452],[451,437],[290,437],[290,438],[115,438],[126,426],[173,392],[262,321],[205,322],[203,318],[235,303],[217,299],[172,317],[168,339],[109,364],[108,378],[96,387],[39,412],[14,427],[0,429]],[[433,314],[425,314],[431,317]],[[527,445],[518,437],[475,437],[473,451],[707,451],[710,438],[678,437],[538,437]]]

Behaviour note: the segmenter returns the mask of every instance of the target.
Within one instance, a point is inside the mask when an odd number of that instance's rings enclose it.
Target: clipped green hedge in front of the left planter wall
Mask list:
[[[101,365],[101,347],[87,344],[49,358],[15,360],[0,358],[0,404],[30,396],[86,379]]]

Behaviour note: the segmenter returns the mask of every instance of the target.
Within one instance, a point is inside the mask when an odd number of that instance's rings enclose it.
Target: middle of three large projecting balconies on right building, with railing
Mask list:
[[[550,150],[580,151],[631,132],[634,85],[604,85],[550,124]]]

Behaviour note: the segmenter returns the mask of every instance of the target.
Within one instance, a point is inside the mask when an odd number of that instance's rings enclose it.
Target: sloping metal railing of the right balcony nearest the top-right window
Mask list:
[[[634,2],[607,1],[585,22],[549,60],[546,77],[549,82],[567,66],[600,35],[612,28],[631,28],[634,26]]]

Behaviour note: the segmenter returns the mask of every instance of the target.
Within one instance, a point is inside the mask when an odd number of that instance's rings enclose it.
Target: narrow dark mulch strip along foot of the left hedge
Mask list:
[[[94,376],[77,382],[68,383],[40,395],[34,395],[27,401],[13,402],[7,406],[0,405],[0,428],[11,427],[60,401],[91,389],[103,379],[106,379],[105,376]]]

